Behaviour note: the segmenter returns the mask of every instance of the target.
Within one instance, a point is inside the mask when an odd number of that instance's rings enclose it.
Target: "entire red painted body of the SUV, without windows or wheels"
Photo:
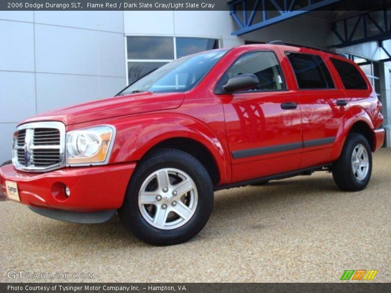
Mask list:
[[[259,50],[275,52],[286,91],[214,93],[219,78],[239,56]],[[321,56],[336,89],[299,90],[285,51]],[[42,174],[19,172],[8,165],[0,169],[1,186],[5,190],[5,179],[18,182],[22,203],[32,206],[79,211],[116,209],[122,204],[136,162],[153,146],[170,138],[189,138],[205,146],[216,162],[218,185],[331,163],[339,157],[346,136],[356,122],[364,122],[372,129],[374,151],[384,141],[384,130],[376,129],[383,121],[381,104],[366,78],[368,90],[344,90],[330,57],[347,61],[325,52],[291,46],[239,46],[229,51],[194,89],[185,93],[132,94],[25,120],[23,123],[62,121],[67,131],[101,124],[115,126],[117,135],[109,165],[63,168]],[[335,105],[338,99],[347,99],[348,105]],[[296,102],[297,109],[282,110],[280,104],[286,102]],[[329,137],[335,137],[335,142],[247,158],[232,156],[238,150]],[[58,183],[71,188],[68,199],[64,200],[56,191],[62,186]]]

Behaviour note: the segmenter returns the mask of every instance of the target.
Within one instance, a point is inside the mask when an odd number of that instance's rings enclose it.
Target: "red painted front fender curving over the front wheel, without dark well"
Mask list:
[[[231,179],[231,160],[223,139],[204,123],[192,117],[173,113],[144,114],[112,123],[117,134],[110,164],[140,160],[153,146],[171,138],[189,138],[205,146],[215,158],[220,183]]]

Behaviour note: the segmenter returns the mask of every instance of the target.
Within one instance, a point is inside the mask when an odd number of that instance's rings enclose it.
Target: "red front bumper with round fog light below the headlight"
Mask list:
[[[20,202],[42,209],[97,212],[118,209],[124,200],[135,163],[71,167],[47,173],[15,170],[13,165],[0,168],[0,188],[8,197],[5,181],[18,184]],[[65,186],[70,195],[65,195]]]

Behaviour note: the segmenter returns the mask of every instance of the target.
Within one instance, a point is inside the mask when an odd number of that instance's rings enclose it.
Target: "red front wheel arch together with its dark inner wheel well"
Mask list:
[[[171,147],[195,156],[214,185],[227,183],[231,180],[231,157],[223,134],[217,136],[206,124],[184,115],[143,115],[117,125],[110,163],[137,162],[157,148]]]

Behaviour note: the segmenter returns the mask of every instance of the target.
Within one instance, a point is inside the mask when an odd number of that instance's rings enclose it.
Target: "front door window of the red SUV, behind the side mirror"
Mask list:
[[[245,73],[255,74],[260,80],[259,85],[252,90],[285,89],[280,64],[273,52],[259,51],[242,55],[226,73],[225,82],[229,78]]]

